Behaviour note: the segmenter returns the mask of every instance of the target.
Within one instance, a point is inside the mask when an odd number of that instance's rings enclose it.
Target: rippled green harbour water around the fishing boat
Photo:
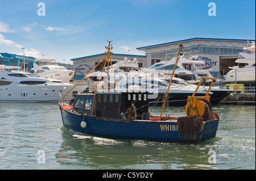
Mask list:
[[[57,103],[0,103],[0,169],[255,170],[255,106],[218,104],[213,111],[220,116],[216,137],[174,143],[73,132],[63,127]],[[151,113],[160,115],[160,107]]]

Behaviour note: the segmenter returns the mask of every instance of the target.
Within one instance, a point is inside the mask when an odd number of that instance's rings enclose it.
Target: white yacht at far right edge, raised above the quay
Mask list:
[[[255,42],[249,43],[250,47],[243,48],[245,51],[239,53],[241,58],[238,58],[235,62],[238,66],[233,66],[226,74],[226,82],[233,83],[245,83],[255,85]],[[251,53],[247,53],[251,51]],[[246,64],[246,66],[240,68],[239,64]]]

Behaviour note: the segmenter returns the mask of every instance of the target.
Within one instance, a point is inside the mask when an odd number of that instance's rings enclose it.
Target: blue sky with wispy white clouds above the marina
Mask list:
[[[255,0],[0,0],[1,53],[72,64],[194,37],[255,40]]]

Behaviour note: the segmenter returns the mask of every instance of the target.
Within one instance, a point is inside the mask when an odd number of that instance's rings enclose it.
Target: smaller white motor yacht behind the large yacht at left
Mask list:
[[[57,79],[63,82],[70,82],[73,78],[73,75],[75,74],[75,71],[67,70],[64,66],[51,64],[51,62],[55,61],[55,59],[40,59],[35,60],[35,62],[36,61],[49,62],[49,64],[46,65],[37,65],[36,63],[33,64],[34,68],[31,70],[34,70],[34,73],[42,78]]]

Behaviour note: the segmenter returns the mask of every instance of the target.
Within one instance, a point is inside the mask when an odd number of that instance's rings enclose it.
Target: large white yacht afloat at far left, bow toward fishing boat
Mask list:
[[[18,67],[19,68],[19,67]],[[25,73],[14,66],[0,66],[0,102],[57,102],[60,95],[67,93],[74,85],[55,79],[45,79],[38,75]],[[67,100],[73,99],[77,93],[88,86],[75,87]]]

